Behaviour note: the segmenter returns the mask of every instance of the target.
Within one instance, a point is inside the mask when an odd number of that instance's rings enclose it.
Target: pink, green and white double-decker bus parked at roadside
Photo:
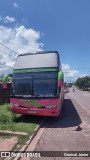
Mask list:
[[[64,99],[64,74],[57,51],[18,55],[10,94],[16,114],[59,116]]]

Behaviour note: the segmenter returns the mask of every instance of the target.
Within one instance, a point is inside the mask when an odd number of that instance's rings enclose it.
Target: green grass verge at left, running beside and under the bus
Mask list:
[[[42,120],[43,117],[13,114],[10,111],[10,104],[0,105],[0,130],[28,133],[27,136],[17,136],[18,141],[13,147],[14,150],[17,149],[17,146],[21,148],[21,146],[26,143],[36,126],[40,124]]]

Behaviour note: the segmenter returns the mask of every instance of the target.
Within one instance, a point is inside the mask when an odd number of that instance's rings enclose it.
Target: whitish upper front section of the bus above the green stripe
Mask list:
[[[59,67],[57,51],[40,51],[18,55],[14,69]]]

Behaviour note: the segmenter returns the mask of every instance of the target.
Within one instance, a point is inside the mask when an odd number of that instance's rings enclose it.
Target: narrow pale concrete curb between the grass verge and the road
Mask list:
[[[24,145],[19,151],[25,152],[25,150],[28,148],[28,145],[31,143],[31,141],[34,139],[35,135],[39,131],[40,127],[44,123],[44,120],[34,129],[34,133],[30,136],[30,139],[26,142],[26,145]],[[18,153],[19,153],[18,151]],[[20,160],[21,157],[15,157],[13,160]]]

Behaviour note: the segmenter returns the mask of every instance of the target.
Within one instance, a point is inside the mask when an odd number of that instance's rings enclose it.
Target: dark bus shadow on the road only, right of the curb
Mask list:
[[[42,127],[47,128],[66,128],[79,126],[82,123],[81,118],[70,99],[64,99],[62,112],[59,117],[47,118],[47,124]]]

